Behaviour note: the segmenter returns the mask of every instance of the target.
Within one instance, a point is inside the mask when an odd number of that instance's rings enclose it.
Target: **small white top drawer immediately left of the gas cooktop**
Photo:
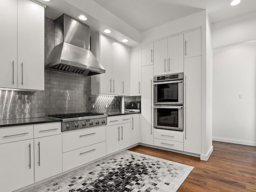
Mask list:
[[[61,123],[34,125],[34,138],[61,134]]]

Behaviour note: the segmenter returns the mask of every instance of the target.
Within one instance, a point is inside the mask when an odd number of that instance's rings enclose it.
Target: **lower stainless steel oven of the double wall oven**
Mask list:
[[[183,106],[154,105],[154,128],[183,131]]]

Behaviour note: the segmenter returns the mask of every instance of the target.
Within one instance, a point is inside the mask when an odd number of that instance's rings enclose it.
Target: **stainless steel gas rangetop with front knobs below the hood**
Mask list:
[[[107,117],[104,113],[72,113],[49,115],[48,118],[61,119],[61,131],[71,131],[107,124]]]

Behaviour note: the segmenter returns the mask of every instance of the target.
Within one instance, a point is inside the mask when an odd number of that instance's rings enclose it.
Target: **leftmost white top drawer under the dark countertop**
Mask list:
[[[33,125],[0,129],[0,144],[33,138]]]

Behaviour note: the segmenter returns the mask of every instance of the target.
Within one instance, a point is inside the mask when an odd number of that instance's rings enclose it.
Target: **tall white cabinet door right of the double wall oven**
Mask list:
[[[184,59],[185,138],[184,151],[201,154],[202,146],[202,56]]]

